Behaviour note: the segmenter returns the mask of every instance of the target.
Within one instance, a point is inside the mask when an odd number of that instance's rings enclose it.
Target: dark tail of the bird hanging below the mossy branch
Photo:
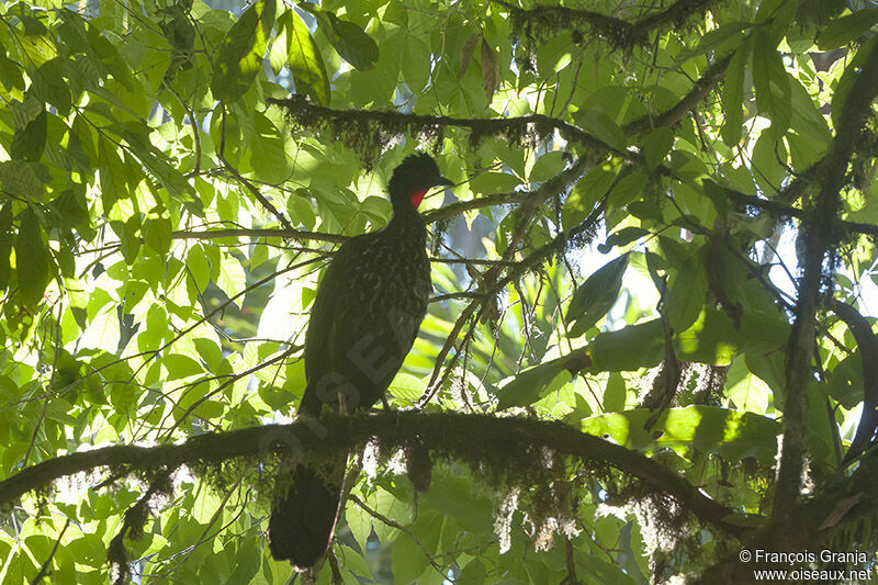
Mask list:
[[[314,566],[329,548],[341,508],[347,453],[322,463],[300,463],[286,495],[271,507],[268,545],[275,561]]]

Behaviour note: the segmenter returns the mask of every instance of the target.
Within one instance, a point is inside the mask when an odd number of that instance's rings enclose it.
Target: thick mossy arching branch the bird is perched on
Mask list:
[[[539,464],[548,448],[594,468],[615,468],[649,490],[673,496],[695,516],[725,533],[741,536],[744,531],[731,521],[736,514],[732,508],[707,497],[683,476],[641,453],[556,421],[458,413],[395,412],[326,416],[319,420],[304,418],[290,425],[204,434],[178,445],[124,445],[76,452],[43,461],[0,482],[0,504],[45,487],[59,477],[97,468],[134,472],[218,464],[234,458],[295,457],[308,451],[349,450],[373,438],[378,438],[382,449],[393,449],[404,447],[413,437],[439,455],[479,462],[500,472],[521,472],[527,465]]]

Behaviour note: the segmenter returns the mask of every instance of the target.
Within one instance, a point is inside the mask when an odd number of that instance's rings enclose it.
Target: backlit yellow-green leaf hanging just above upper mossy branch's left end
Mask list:
[[[281,14],[280,23],[286,41],[286,64],[295,79],[296,93],[308,95],[320,105],[329,105],[329,79],[307,25],[292,10]]]

